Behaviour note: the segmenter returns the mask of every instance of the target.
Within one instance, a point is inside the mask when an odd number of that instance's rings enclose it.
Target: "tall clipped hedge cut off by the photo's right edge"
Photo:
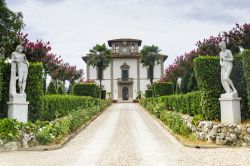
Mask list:
[[[246,49],[242,53],[244,77],[247,84],[247,94],[248,94],[248,112],[250,112],[250,49]]]

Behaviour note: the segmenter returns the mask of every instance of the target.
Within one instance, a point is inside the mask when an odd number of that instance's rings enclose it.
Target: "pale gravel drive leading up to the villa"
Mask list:
[[[0,153],[0,166],[250,165],[250,148],[184,147],[142,107],[117,103],[54,151]]]

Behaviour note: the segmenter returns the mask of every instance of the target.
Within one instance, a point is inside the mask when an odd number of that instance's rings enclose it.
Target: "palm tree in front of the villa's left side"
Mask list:
[[[96,44],[89,50],[88,65],[97,68],[100,88],[102,88],[103,71],[109,66],[111,51],[103,43]]]

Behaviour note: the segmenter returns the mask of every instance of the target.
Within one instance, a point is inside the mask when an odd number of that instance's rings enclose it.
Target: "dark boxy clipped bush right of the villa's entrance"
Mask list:
[[[172,82],[157,82],[153,85],[155,96],[166,96],[174,93],[174,84]]]

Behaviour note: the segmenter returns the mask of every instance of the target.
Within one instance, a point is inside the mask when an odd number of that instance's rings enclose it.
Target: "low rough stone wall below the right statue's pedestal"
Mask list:
[[[193,117],[181,115],[187,126],[195,133],[198,140],[218,145],[250,146],[250,124],[221,124],[212,121],[200,121],[192,124]]]

